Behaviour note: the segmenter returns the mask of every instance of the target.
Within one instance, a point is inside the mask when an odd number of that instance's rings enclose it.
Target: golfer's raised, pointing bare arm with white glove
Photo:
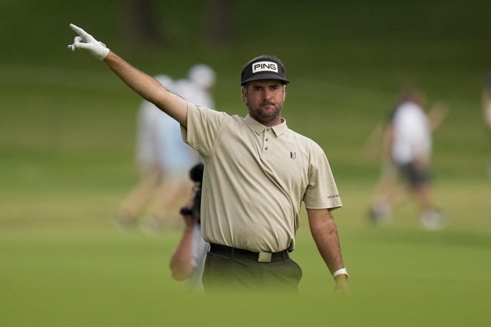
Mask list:
[[[169,114],[184,127],[187,127],[187,104],[184,99],[165,89],[153,77],[131,66],[114,52],[107,49],[104,43],[97,41],[83,29],[73,24],[70,24],[70,28],[77,32],[79,36],[75,37],[73,44],[68,46],[69,49],[72,51],[76,49],[88,50],[96,58],[103,60],[133,91]]]

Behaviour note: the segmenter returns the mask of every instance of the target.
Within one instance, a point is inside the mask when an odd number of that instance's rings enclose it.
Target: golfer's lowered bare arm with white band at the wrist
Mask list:
[[[307,209],[310,232],[329,271],[332,273],[344,268],[339,245],[338,228],[329,213],[329,209]],[[334,277],[336,291],[348,293],[347,275]]]

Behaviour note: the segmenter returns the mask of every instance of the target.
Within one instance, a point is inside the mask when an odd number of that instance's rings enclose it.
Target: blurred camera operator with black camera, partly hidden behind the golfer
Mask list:
[[[189,171],[189,177],[194,182],[193,192],[188,203],[181,208],[184,233],[170,259],[172,276],[177,281],[187,279],[190,290],[203,290],[201,277],[209,248],[209,243],[201,236],[200,225],[203,168],[203,164],[197,164]]]

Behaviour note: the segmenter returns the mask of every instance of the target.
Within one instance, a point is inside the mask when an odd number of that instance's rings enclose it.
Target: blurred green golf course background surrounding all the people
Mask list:
[[[153,39],[138,35],[134,1],[0,2],[1,325],[489,325],[489,1],[141,3]],[[298,297],[187,294],[168,269],[180,228],[115,228],[138,180],[141,99],[66,49],[70,22],[150,75],[213,66],[217,109],[230,114],[246,113],[242,64],[280,57],[291,80],[283,116],[323,147],[342,196],[334,218],[351,296],[333,294],[305,212]],[[366,219],[380,162],[364,144],[405,85],[450,111],[434,135],[433,193],[450,222],[438,232],[421,227],[413,202],[386,226]]]

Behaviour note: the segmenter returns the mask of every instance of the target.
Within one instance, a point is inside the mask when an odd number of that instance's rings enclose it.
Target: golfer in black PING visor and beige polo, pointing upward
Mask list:
[[[245,118],[199,107],[167,91],[84,30],[68,47],[103,60],[140,96],[181,124],[183,140],[205,161],[201,232],[210,243],[208,289],[297,291],[300,267],[290,258],[305,203],[311,234],[336,282],[348,291],[338,230],[330,212],[342,206],[324,151],[286,126],[281,110],[285,69],[259,56],[241,70]]]

